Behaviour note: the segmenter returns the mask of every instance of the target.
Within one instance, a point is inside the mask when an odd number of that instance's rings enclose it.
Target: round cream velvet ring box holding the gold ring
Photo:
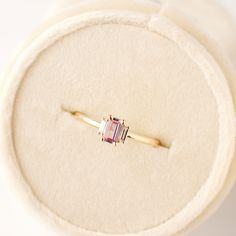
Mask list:
[[[235,179],[235,32],[213,1],[62,3],[2,76],[1,153],[22,192],[67,234],[202,222]],[[169,148],[99,142],[65,108]]]

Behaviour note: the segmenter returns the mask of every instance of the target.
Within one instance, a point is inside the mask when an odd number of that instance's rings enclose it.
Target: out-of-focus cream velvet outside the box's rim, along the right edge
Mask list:
[[[182,29],[194,36],[202,45],[204,45],[208,52],[214,56],[215,60],[224,71],[235,107],[236,45],[234,38],[236,37],[236,28],[234,21],[222,7],[216,4],[215,1],[186,2],[185,0],[173,0],[169,2],[169,5],[164,4],[159,14],[168,17],[176,24],[181,26]],[[184,3],[184,7],[182,3]],[[211,17],[206,17],[206,15],[202,14],[202,12],[209,10]],[[196,18],[200,18],[200,20],[196,20]],[[215,27],[216,25],[223,25],[223,27]],[[212,32],[212,29],[216,30],[217,32]],[[185,235],[186,233],[190,232],[194,227],[201,224],[217,210],[235,183],[235,177],[236,158],[234,157],[228,177],[221,192],[205,209],[205,211],[187,228],[183,229],[178,235]]]

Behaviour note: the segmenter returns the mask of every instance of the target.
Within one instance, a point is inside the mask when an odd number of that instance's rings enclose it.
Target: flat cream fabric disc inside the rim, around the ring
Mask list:
[[[168,219],[196,194],[215,158],[217,107],[202,77],[173,43],[131,26],[89,28],[48,49],[28,71],[14,116],[17,156],[39,198],[95,231],[127,233]],[[114,149],[62,106],[124,117],[171,149],[132,141]]]

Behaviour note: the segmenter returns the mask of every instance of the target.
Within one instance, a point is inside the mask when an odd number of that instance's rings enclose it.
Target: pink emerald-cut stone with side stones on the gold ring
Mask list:
[[[99,133],[102,140],[108,143],[124,143],[129,127],[124,124],[123,120],[117,118],[104,118],[100,124]]]

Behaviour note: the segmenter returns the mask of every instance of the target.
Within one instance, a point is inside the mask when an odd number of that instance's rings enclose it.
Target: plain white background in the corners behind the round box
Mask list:
[[[0,0],[0,70],[54,2],[56,0]],[[236,21],[236,0],[220,2]],[[0,236],[60,235],[29,209],[8,174],[6,163],[0,157]],[[215,215],[191,233],[191,236],[235,235],[236,186]]]

